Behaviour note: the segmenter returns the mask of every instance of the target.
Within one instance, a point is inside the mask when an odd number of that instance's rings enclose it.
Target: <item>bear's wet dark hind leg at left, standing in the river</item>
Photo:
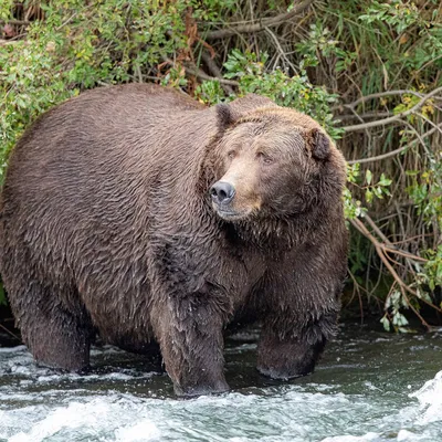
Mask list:
[[[83,371],[90,365],[93,337],[90,318],[77,305],[72,308],[75,314],[72,313],[51,292],[32,281],[19,296],[10,294],[23,341],[38,364]]]

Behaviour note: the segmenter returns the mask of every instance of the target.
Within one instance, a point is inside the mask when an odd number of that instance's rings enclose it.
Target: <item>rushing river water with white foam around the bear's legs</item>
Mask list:
[[[255,372],[254,341],[228,341],[230,393],[192,400],[113,347],[94,348],[87,376],[0,348],[0,441],[442,441],[442,334],[345,326],[316,372],[291,383]]]

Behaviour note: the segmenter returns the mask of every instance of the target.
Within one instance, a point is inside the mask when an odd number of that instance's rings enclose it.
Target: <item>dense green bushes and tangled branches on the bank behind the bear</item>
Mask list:
[[[3,1],[0,178],[24,128],[86,88],[270,96],[317,118],[349,160],[346,305],[379,306],[388,329],[408,329],[411,313],[430,327],[442,313],[441,14],[438,0]]]

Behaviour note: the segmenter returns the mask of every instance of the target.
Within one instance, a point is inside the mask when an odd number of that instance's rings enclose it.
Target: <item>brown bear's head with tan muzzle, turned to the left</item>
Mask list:
[[[225,221],[287,218],[340,204],[345,160],[311,117],[276,105],[215,108],[212,208]]]

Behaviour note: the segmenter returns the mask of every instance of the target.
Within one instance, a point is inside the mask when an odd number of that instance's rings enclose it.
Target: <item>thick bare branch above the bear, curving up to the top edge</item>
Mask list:
[[[263,31],[265,28],[273,28],[277,27],[278,24],[291,20],[295,15],[301,14],[305,11],[314,0],[304,0],[296,3],[293,9],[288,12],[281,13],[275,17],[271,17],[267,19],[262,19],[257,23],[250,23],[250,24],[240,24],[235,28],[227,28],[220,29],[217,31],[209,31],[206,34],[207,40],[215,40],[215,39],[224,39],[227,36],[232,36],[236,34],[244,34],[244,33],[253,33]]]

